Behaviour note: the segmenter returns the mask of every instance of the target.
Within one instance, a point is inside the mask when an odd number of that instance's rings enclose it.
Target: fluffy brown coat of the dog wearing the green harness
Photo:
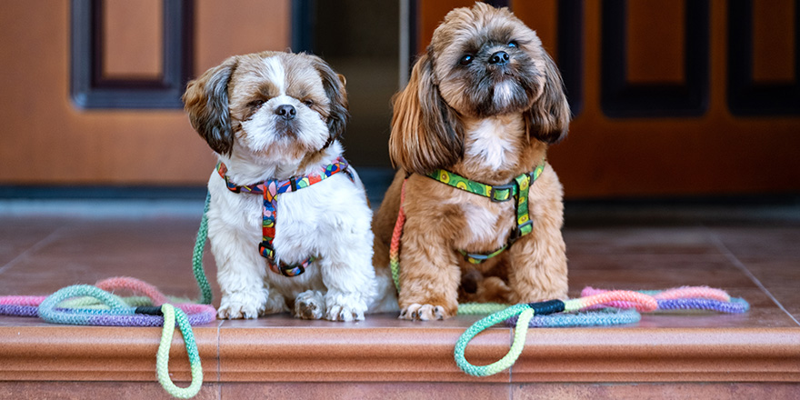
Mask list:
[[[546,165],[529,192],[533,232],[501,255],[468,264],[456,249],[488,253],[515,225],[513,201],[493,203],[424,176],[437,168],[488,185],[532,171],[565,137],[561,76],[535,32],[508,9],[477,3],[445,16],[405,90],[395,96],[389,153],[399,167],[375,218],[375,265],[388,245],[406,175],[401,318],[443,319],[461,301],[520,303],[567,291],[563,189]]]

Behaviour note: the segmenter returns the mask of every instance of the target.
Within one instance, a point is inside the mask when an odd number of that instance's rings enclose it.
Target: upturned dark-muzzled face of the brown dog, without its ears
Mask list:
[[[455,10],[435,30],[428,54],[440,95],[462,115],[521,112],[545,85],[541,41],[505,9]]]

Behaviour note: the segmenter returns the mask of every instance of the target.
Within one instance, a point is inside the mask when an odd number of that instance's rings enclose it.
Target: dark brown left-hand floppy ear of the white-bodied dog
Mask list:
[[[182,97],[189,121],[216,153],[228,155],[234,147],[231,113],[228,103],[228,81],[237,64],[230,57],[222,65],[205,71],[186,86]]]

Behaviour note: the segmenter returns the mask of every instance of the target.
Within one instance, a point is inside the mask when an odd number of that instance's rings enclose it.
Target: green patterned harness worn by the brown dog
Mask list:
[[[458,250],[459,253],[464,255],[466,261],[471,264],[481,264],[489,258],[503,253],[503,251],[513,245],[517,239],[533,231],[534,222],[531,221],[528,215],[528,189],[530,189],[531,185],[538,179],[539,175],[542,175],[542,171],[544,170],[545,163],[542,162],[540,165],[536,166],[532,172],[516,176],[514,180],[505,185],[482,184],[450,171],[445,171],[444,169],[437,169],[427,175],[445,185],[451,185],[475,195],[488,197],[493,202],[515,200],[516,225],[508,234],[508,240],[505,242],[505,245],[502,245],[500,248],[488,254],[468,253],[464,250]]]

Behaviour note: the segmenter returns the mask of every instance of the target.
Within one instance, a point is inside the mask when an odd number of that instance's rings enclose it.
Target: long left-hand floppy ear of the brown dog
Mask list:
[[[389,156],[395,166],[428,174],[461,158],[461,120],[439,94],[430,55],[417,60],[408,85],[393,98],[393,107]]]

